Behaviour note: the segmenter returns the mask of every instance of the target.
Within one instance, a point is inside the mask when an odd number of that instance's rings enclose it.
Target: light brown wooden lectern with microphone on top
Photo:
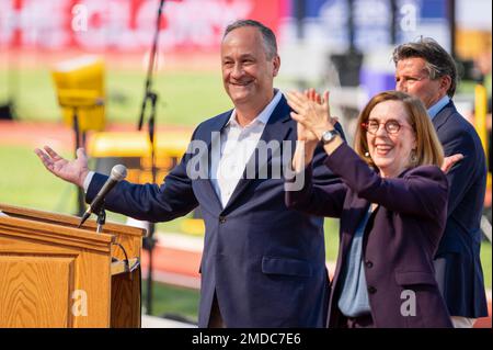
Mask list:
[[[145,230],[0,203],[0,328],[140,327]],[[1,215],[1,214],[0,214]]]

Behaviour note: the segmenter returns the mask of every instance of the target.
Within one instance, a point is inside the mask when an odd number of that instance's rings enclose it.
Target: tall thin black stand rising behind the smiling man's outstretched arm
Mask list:
[[[156,137],[154,137],[154,124],[156,124],[156,106],[158,104],[158,94],[152,91],[152,74],[154,71],[154,61],[156,61],[156,55],[158,52],[158,43],[159,43],[159,29],[161,24],[161,13],[162,8],[164,5],[164,0],[161,0],[159,3],[159,10],[158,10],[158,19],[156,21],[156,33],[154,33],[154,39],[152,43],[152,49],[149,56],[149,67],[147,70],[147,79],[146,79],[146,90],[144,93],[144,100],[142,105],[140,109],[140,117],[138,123],[138,131],[142,129],[144,124],[144,115],[146,111],[147,104],[150,102],[150,113],[149,113],[149,122],[148,122],[148,128],[149,128],[149,140],[151,145],[151,174],[152,174],[152,183],[156,183],[157,178],[157,169],[156,169]],[[146,301],[146,308],[147,308],[147,315],[152,314],[152,252],[156,245],[154,239],[154,223],[149,223],[149,233],[147,237],[144,239],[144,249],[148,250],[149,253],[149,264],[148,264],[148,273],[147,273],[147,301]]]

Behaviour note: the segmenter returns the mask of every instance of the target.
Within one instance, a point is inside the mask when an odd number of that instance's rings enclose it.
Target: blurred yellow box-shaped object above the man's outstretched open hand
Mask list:
[[[77,112],[79,131],[103,131],[105,126],[104,63],[84,56],[58,64],[51,71],[64,122],[73,127]]]

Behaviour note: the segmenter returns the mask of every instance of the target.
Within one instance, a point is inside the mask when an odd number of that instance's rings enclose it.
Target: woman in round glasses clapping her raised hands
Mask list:
[[[305,185],[287,181],[286,204],[341,218],[329,327],[451,327],[433,270],[448,183],[423,104],[402,92],[377,94],[359,115],[353,150],[334,129],[328,93],[291,92],[288,103],[298,122],[293,167]],[[341,183],[312,184],[319,145]]]

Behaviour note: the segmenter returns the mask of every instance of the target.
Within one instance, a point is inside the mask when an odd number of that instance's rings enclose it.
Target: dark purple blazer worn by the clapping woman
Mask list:
[[[365,229],[363,259],[375,327],[451,327],[433,267],[447,211],[448,184],[442,170],[422,166],[398,178],[382,179],[346,144],[328,157],[325,165],[343,183],[313,185],[309,166],[301,191],[289,191],[290,183],[286,183],[286,204],[305,213],[341,218],[329,327],[345,325],[337,307],[339,276],[370,203],[379,207]],[[412,294],[415,315],[404,316],[401,308],[411,311]]]

